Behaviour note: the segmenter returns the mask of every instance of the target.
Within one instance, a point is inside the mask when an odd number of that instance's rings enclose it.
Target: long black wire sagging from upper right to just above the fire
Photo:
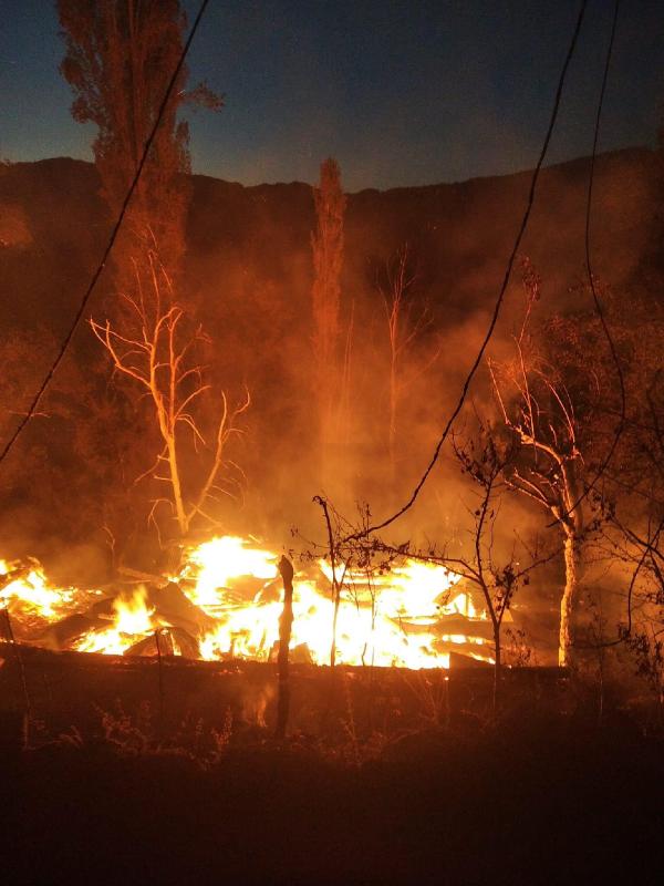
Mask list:
[[[468,394],[468,390],[470,388],[473,379],[475,378],[475,373],[479,369],[479,365],[480,365],[480,363],[483,361],[483,358],[485,356],[487,347],[488,347],[488,344],[489,344],[489,342],[490,342],[490,340],[491,340],[491,338],[494,336],[494,330],[496,329],[496,324],[497,324],[498,318],[500,316],[500,310],[502,308],[502,302],[505,300],[505,293],[507,291],[507,286],[509,284],[509,279],[510,279],[510,276],[511,276],[511,272],[512,272],[512,269],[513,269],[513,265],[515,265],[515,261],[516,261],[516,258],[517,258],[517,254],[519,251],[519,247],[521,245],[521,240],[523,239],[523,235],[525,235],[526,228],[528,226],[528,220],[530,218],[530,213],[532,210],[532,206],[533,206],[533,203],[535,203],[535,193],[536,193],[536,189],[537,189],[537,184],[538,184],[538,181],[539,181],[540,172],[541,172],[541,168],[542,168],[542,165],[543,165],[543,162],[544,162],[544,157],[547,156],[547,151],[549,150],[549,143],[551,141],[551,136],[553,134],[553,128],[556,126],[556,121],[558,119],[558,111],[560,109],[560,101],[561,101],[561,97],[562,97],[562,90],[564,87],[564,82],[566,82],[566,79],[567,79],[567,72],[568,72],[570,62],[572,60],[572,56],[574,54],[574,49],[577,48],[577,42],[578,42],[579,33],[581,31],[581,24],[583,23],[583,18],[585,16],[587,7],[588,7],[588,0],[581,0],[581,8],[580,8],[579,14],[577,17],[577,22],[574,24],[574,31],[572,33],[572,39],[571,39],[570,45],[568,48],[568,52],[567,52],[566,59],[564,59],[564,64],[562,65],[562,71],[560,73],[560,78],[558,80],[558,87],[556,90],[556,97],[553,100],[553,109],[551,111],[551,116],[550,116],[550,120],[549,120],[549,126],[547,128],[547,134],[544,136],[544,141],[543,141],[543,144],[542,144],[542,148],[541,148],[537,165],[536,165],[535,171],[532,173],[532,178],[531,178],[531,182],[530,182],[530,190],[529,190],[529,194],[528,194],[528,203],[527,203],[527,206],[526,206],[526,212],[523,213],[523,217],[521,219],[521,225],[519,227],[519,231],[517,234],[517,238],[515,240],[515,245],[512,247],[512,250],[510,253],[510,256],[509,256],[509,259],[508,259],[508,262],[507,262],[507,268],[506,268],[506,271],[505,271],[505,276],[502,278],[502,285],[500,287],[500,291],[498,292],[498,298],[496,299],[496,303],[494,306],[494,312],[492,312],[492,316],[491,316],[491,321],[490,321],[489,327],[487,329],[487,332],[485,334],[484,341],[483,341],[483,343],[481,343],[481,346],[479,348],[479,351],[477,352],[477,357],[475,358],[475,361],[474,361],[473,365],[470,367],[470,370],[469,370],[468,374],[466,375],[466,380],[464,381],[464,385],[461,388],[461,394],[459,396],[459,401],[458,401],[457,405],[455,406],[452,415],[447,420],[447,423],[446,423],[446,425],[445,425],[445,427],[443,430],[443,433],[440,434],[440,436],[438,439],[438,442],[436,443],[436,446],[434,449],[434,454],[433,454],[428,465],[426,466],[426,470],[424,471],[422,477],[419,478],[417,485],[413,490],[413,493],[411,494],[411,497],[407,499],[407,502],[402,507],[400,507],[398,511],[396,511],[394,514],[392,514],[392,516],[387,517],[382,523],[377,523],[374,526],[364,527],[361,532],[353,533],[352,535],[350,535],[346,540],[352,540],[354,538],[361,538],[361,537],[364,537],[364,536],[366,536],[366,535],[369,535],[371,533],[378,532],[380,529],[384,529],[386,526],[390,526],[392,523],[395,523],[395,521],[397,521],[400,517],[402,517],[406,513],[406,511],[408,511],[415,504],[419,493],[422,492],[422,488],[423,488],[424,484],[428,480],[429,474],[432,473],[432,471],[434,470],[434,467],[435,467],[435,465],[436,465],[436,463],[438,461],[438,457],[440,455],[440,450],[443,449],[443,445],[445,444],[445,441],[447,440],[449,431],[450,431],[453,424],[455,423],[455,421],[457,420],[457,418],[458,418],[458,415],[459,415],[459,413],[460,413],[460,411],[461,411],[461,409],[464,406],[464,403],[466,401],[466,396]]]

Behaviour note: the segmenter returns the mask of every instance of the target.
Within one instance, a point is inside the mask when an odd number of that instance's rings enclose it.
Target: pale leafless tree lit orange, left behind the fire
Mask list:
[[[250,396],[247,392],[243,401],[231,408],[226,393],[221,392],[212,441],[208,445],[197,404],[211,385],[204,383],[205,367],[193,357],[196,346],[206,338],[200,328],[194,331],[186,328],[185,311],[173,301],[169,277],[153,254],[148,255],[146,268],[146,279],[143,279],[144,275],[136,267],[136,295],[125,293],[123,298],[127,308],[123,330],[131,332],[118,332],[110,320],[104,323],[91,320],[91,326],[115,370],[137,382],[149,398],[163,450],[146,473],[169,486],[169,495],[153,503],[151,518],[158,529],[157,511],[162,504],[167,504],[184,536],[197,515],[207,516],[205,506],[212,494],[226,492],[219,483],[222,468],[228,464],[226,445],[238,432],[237,419],[248,409]],[[149,297],[145,296],[146,287]],[[189,443],[183,434],[185,431]],[[185,491],[183,463],[185,450],[191,444],[196,452],[200,447],[207,450],[209,457],[203,476],[196,484],[189,483]]]

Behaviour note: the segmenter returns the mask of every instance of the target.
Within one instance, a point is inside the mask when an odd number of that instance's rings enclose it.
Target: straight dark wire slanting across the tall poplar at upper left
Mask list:
[[[89,286],[87,286],[87,289],[85,290],[85,293],[83,295],[83,298],[81,299],[81,303],[79,305],[79,309],[77,309],[76,315],[75,315],[75,317],[74,317],[74,319],[72,321],[72,324],[71,324],[66,336],[64,337],[64,339],[62,341],[62,344],[60,346],[60,350],[59,350],[59,352],[58,352],[58,354],[55,357],[55,360],[53,361],[53,363],[52,363],[51,368],[49,369],[44,380],[42,381],[41,385],[39,387],[39,390],[37,391],[34,398],[32,399],[32,402],[30,403],[28,412],[23,415],[23,418],[19,422],[15,431],[10,436],[9,441],[4,445],[2,452],[0,453],[0,464],[9,455],[11,449],[13,447],[14,443],[19,439],[21,432],[23,431],[23,429],[25,427],[25,425],[28,424],[30,419],[34,415],[34,413],[37,411],[37,408],[39,405],[39,402],[40,402],[40,400],[42,399],[42,396],[44,394],[44,391],[46,390],[46,388],[51,383],[51,381],[53,379],[53,375],[55,374],[55,372],[58,370],[58,367],[60,365],[64,354],[66,353],[66,350],[68,350],[68,348],[69,348],[69,346],[71,343],[71,340],[72,340],[72,338],[74,336],[74,332],[76,331],[76,328],[77,328],[79,323],[81,322],[81,318],[83,317],[83,312],[84,312],[85,308],[87,307],[87,302],[90,301],[90,298],[91,298],[91,296],[92,296],[92,293],[94,291],[94,288],[97,285],[97,281],[98,281],[100,277],[102,276],[102,274],[104,271],[104,268],[106,267],[106,261],[108,260],[108,257],[111,256],[111,251],[112,251],[112,249],[113,249],[113,247],[115,245],[115,240],[117,239],[117,235],[120,234],[120,228],[121,228],[122,223],[124,220],[124,217],[126,215],[127,208],[129,206],[129,202],[131,202],[132,197],[134,196],[134,192],[136,190],[136,187],[138,185],[138,181],[141,178],[141,174],[143,172],[143,167],[145,166],[145,163],[147,161],[151,147],[152,147],[153,142],[155,140],[155,136],[157,134],[157,130],[159,128],[159,124],[162,122],[162,119],[164,116],[164,113],[166,111],[168,102],[170,100],[170,95],[173,93],[173,90],[175,89],[175,84],[176,84],[177,79],[178,79],[178,76],[180,74],[180,71],[183,70],[183,65],[184,65],[185,60],[187,58],[187,53],[189,51],[189,47],[191,45],[191,42],[193,42],[193,40],[194,40],[194,38],[196,35],[196,31],[198,30],[198,25],[200,24],[200,20],[201,20],[203,16],[204,16],[204,12],[205,12],[206,7],[208,6],[208,3],[209,3],[209,0],[203,0],[203,2],[200,4],[200,8],[198,10],[198,14],[196,16],[194,24],[191,25],[191,30],[189,31],[189,35],[187,37],[187,41],[186,41],[186,43],[185,43],[185,45],[183,48],[183,51],[181,51],[181,54],[179,56],[178,63],[177,63],[174,72],[173,72],[170,81],[168,82],[168,86],[166,87],[166,92],[164,93],[164,99],[162,100],[162,104],[159,105],[159,109],[157,111],[157,116],[155,119],[154,126],[153,126],[153,128],[152,128],[152,131],[151,131],[151,133],[149,133],[149,135],[147,137],[147,141],[145,143],[145,147],[143,148],[143,155],[141,157],[141,162],[139,162],[139,164],[138,164],[138,166],[136,168],[136,172],[134,174],[134,178],[132,181],[132,184],[129,185],[129,189],[127,190],[126,197],[124,198],[124,202],[122,204],[122,208],[120,210],[120,215],[117,216],[117,220],[115,222],[115,225],[113,226],[113,230],[111,231],[111,237],[108,238],[108,243],[106,244],[106,248],[104,249],[104,254],[103,254],[103,256],[102,256],[102,258],[101,258],[101,260],[100,260],[100,262],[98,262],[98,265],[96,267],[96,270],[92,275],[92,279],[91,279],[91,281],[90,281]]]

